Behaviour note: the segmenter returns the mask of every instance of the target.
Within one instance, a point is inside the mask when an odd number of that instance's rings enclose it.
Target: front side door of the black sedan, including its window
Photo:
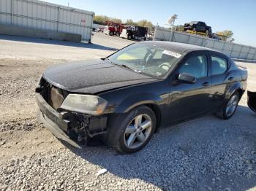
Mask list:
[[[211,77],[206,52],[189,55],[171,79],[169,114],[171,122],[194,117],[211,109]],[[187,73],[196,77],[194,84],[177,82],[177,76]]]

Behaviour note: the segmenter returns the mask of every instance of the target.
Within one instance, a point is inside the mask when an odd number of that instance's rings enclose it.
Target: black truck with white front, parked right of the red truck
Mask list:
[[[142,26],[127,26],[124,28],[120,34],[120,37],[123,39],[129,40],[139,40],[146,41],[146,35],[148,33],[148,28]]]

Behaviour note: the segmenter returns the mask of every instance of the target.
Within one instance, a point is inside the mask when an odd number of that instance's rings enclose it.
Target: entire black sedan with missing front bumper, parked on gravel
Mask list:
[[[221,52],[139,42],[107,58],[47,69],[36,96],[39,117],[57,138],[80,147],[96,136],[131,153],[173,123],[232,117],[246,79],[246,69]]]

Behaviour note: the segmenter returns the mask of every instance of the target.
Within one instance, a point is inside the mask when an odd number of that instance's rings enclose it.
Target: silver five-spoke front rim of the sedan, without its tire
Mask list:
[[[127,125],[124,132],[124,144],[129,149],[140,147],[150,136],[152,120],[148,114],[139,114]]]

